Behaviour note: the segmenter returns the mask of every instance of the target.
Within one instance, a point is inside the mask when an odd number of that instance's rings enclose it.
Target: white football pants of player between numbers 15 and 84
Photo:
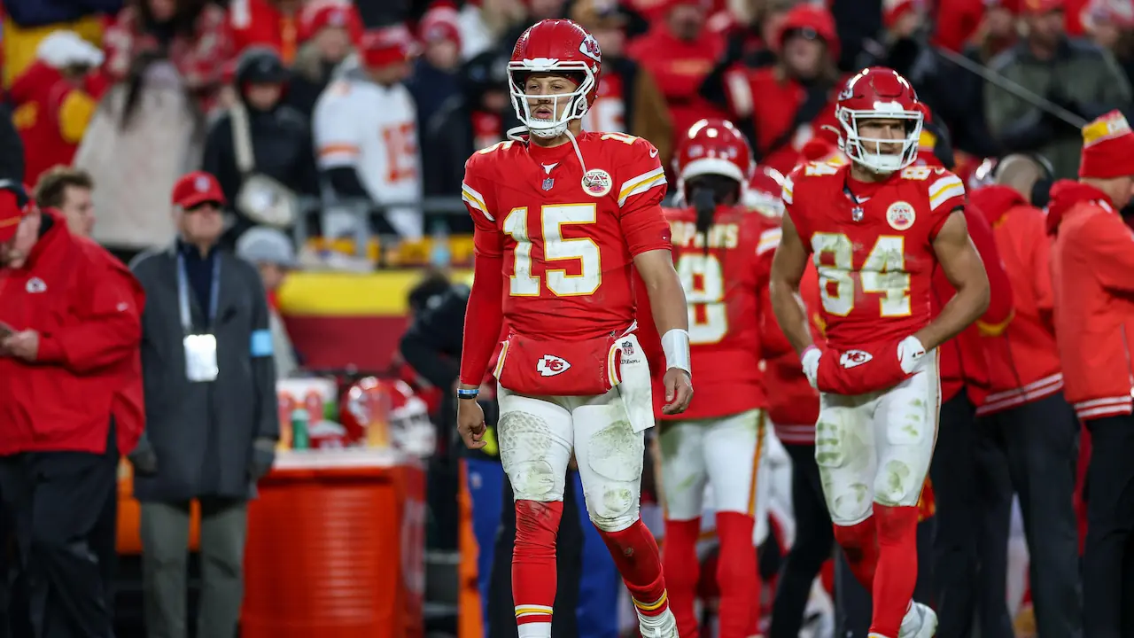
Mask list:
[[[760,410],[663,422],[659,443],[666,519],[701,518],[706,482],[712,485],[716,511],[755,515],[763,422]]]

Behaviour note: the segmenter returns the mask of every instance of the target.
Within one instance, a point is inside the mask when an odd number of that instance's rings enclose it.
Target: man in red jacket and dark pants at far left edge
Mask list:
[[[112,635],[90,535],[117,497],[108,447],[141,433],[111,414],[124,388],[141,394],[143,303],[110,253],[0,183],[0,494],[27,570],[12,616],[42,636]]]

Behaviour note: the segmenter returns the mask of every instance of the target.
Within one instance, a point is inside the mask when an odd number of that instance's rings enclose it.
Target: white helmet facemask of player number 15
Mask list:
[[[535,73],[560,75],[568,81],[576,83],[575,90],[570,93],[556,95],[531,95],[525,93],[527,76]],[[581,76],[582,82],[577,82]],[[519,84],[517,84],[519,81]],[[516,110],[516,117],[527,127],[528,133],[545,140],[555,138],[567,132],[567,125],[573,119],[582,119],[590,108],[587,96],[594,91],[594,72],[586,62],[553,60],[548,58],[536,58],[534,60],[508,62],[508,92],[511,94],[511,106]],[[550,119],[535,117],[539,101],[550,100],[552,116]],[[533,104],[534,102],[534,104]],[[560,107],[566,104],[562,114]]]

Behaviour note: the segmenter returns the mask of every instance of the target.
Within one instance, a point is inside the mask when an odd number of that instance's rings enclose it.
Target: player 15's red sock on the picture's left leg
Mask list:
[[[556,537],[562,501],[516,501],[516,545],[511,554],[511,597],[521,636],[551,636],[556,602]],[[524,627],[531,624],[532,627]]]

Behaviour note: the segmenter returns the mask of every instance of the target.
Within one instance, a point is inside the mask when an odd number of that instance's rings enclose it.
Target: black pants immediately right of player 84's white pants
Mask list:
[[[981,503],[973,497],[980,487],[975,414],[964,389],[941,404],[930,465],[937,503],[932,570],[939,638],[972,636],[978,608]]]

